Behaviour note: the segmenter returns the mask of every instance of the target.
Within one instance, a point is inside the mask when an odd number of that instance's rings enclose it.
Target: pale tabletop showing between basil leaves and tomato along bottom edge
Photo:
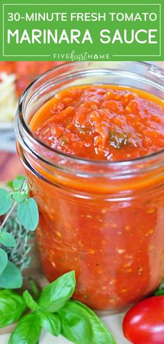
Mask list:
[[[115,341],[117,344],[129,344],[128,341],[124,338],[122,334],[122,318],[124,314],[115,314],[113,316],[106,316],[102,317],[101,319],[106,323],[110,331],[112,332],[113,336],[115,337]],[[8,344],[8,339],[10,338],[10,334],[2,334],[0,335],[0,344]],[[58,336],[58,338],[51,336],[51,334],[47,334],[44,331],[42,332],[42,336],[40,338],[40,344],[70,344],[71,342],[67,341],[62,336]],[[19,344],[19,343],[18,343]],[[83,343],[81,343],[83,344]],[[99,343],[97,343],[99,344]],[[108,344],[108,343],[106,343]]]

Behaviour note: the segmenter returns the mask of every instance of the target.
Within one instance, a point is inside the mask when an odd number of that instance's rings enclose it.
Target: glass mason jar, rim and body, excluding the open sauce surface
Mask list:
[[[74,85],[116,84],[164,97],[163,69],[138,62],[77,62],[51,69],[19,101],[19,157],[40,211],[44,275],[76,272],[74,298],[117,310],[163,277],[164,149],[132,161],[90,161],[48,147],[29,127],[38,108]]]

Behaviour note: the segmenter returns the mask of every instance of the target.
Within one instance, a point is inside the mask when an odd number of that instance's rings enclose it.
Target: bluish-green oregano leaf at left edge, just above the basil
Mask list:
[[[22,287],[22,275],[11,261],[8,261],[5,270],[0,276],[0,288],[17,289]]]

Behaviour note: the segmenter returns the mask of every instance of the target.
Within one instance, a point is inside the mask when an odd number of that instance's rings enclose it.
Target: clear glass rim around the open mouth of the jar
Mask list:
[[[94,63],[95,61],[92,61],[92,63]],[[97,63],[98,61],[96,61],[95,63]],[[101,61],[103,62],[103,61]],[[113,61],[110,61],[113,62]],[[117,62],[117,61],[115,61]],[[53,67],[51,69],[48,69],[46,72],[40,74],[40,76],[37,79],[34,79],[31,83],[29,83],[26,87],[26,89],[24,90],[24,92],[22,93],[22,96],[19,99],[19,104],[18,104],[18,108],[17,108],[17,115],[15,117],[15,131],[17,134],[17,121],[20,120],[22,126],[24,127],[26,133],[28,134],[28,136],[31,136],[31,138],[33,138],[33,140],[35,142],[37,142],[40,147],[44,147],[45,149],[47,149],[47,151],[53,152],[55,154],[57,154],[58,156],[64,157],[69,159],[69,161],[76,161],[79,163],[84,163],[84,164],[91,164],[91,165],[101,165],[101,166],[108,166],[108,167],[114,167],[114,166],[119,166],[119,165],[132,165],[133,163],[144,163],[146,161],[151,161],[152,159],[156,158],[156,157],[160,157],[164,154],[164,148],[160,149],[158,151],[154,151],[151,154],[147,154],[146,156],[140,156],[138,158],[133,158],[133,159],[129,159],[129,160],[119,160],[119,161],[106,161],[106,160],[94,160],[94,159],[90,159],[90,158],[82,158],[81,156],[76,156],[76,155],[70,155],[70,154],[66,154],[63,153],[62,151],[59,151],[58,149],[52,148],[49,145],[47,145],[46,142],[44,142],[43,140],[41,140],[40,138],[38,138],[38,136],[35,135],[35,133],[31,130],[30,126],[28,126],[28,124],[26,123],[26,120],[24,119],[24,102],[26,101],[26,97],[28,95],[29,90],[31,90],[32,86],[37,84],[38,81],[42,81],[42,79],[44,79],[45,76],[48,76],[48,74],[50,74],[53,71],[60,71],[60,69],[63,69],[63,67],[67,66],[67,65],[79,65],[81,63],[81,61],[76,61],[76,62],[68,62],[68,63],[63,63],[62,65]],[[83,62],[84,63],[84,62]],[[85,61],[85,63],[89,63],[89,61]],[[135,64],[137,63],[138,65],[144,65],[145,67],[149,67],[150,69],[153,70],[153,73],[156,74],[158,76],[158,74],[160,75],[160,78],[163,80],[163,86],[164,86],[164,69],[162,67],[158,67],[152,63],[147,63],[145,61],[121,61],[121,63],[131,63],[131,64]],[[105,69],[105,68],[103,68]],[[107,68],[110,69],[110,68]],[[22,114],[22,115],[21,115]]]

